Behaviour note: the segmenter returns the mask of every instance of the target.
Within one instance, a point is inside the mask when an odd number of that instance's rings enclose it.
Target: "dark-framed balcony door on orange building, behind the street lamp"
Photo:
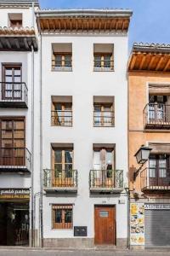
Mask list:
[[[170,185],[170,156],[167,154],[150,155],[149,160],[149,185]]]

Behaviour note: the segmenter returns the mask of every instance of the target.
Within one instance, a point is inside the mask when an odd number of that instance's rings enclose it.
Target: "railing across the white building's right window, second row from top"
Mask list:
[[[95,127],[111,127],[115,125],[115,116],[113,111],[94,111]]]

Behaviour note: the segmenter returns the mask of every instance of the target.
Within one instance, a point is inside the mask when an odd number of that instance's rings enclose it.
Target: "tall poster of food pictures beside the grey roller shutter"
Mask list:
[[[130,243],[144,245],[144,204],[130,204]]]

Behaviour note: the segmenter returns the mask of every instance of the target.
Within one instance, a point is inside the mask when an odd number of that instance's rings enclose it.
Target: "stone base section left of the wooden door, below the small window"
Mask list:
[[[93,238],[44,238],[43,247],[93,248]]]

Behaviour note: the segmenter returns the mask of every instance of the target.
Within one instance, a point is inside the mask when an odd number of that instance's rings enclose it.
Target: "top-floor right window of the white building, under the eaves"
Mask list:
[[[94,44],[94,71],[113,71],[113,44]]]

